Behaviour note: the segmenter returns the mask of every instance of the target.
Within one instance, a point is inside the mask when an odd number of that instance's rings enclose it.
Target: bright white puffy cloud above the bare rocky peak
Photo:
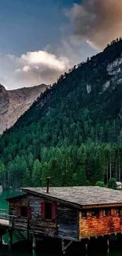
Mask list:
[[[15,77],[29,86],[54,83],[69,68],[68,58],[57,57],[45,50],[23,54],[19,62],[22,67],[15,70]]]

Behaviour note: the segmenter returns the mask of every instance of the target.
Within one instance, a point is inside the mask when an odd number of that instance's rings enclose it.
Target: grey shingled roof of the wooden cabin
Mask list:
[[[24,187],[22,191],[80,207],[120,203],[122,205],[122,192],[105,187],[50,187],[49,193],[46,193],[46,187]]]

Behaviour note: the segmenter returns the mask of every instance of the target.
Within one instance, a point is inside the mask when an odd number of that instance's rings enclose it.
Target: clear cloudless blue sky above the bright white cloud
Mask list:
[[[67,18],[63,9],[72,0],[4,0],[0,8],[0,50],[4,54],[24,54],[58,42],[60,27]]]

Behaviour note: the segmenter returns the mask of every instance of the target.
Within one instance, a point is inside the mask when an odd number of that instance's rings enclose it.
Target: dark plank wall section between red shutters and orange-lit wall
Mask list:
[[[57,207],[58,236],[78,239],[78,212],[76,209]]]

